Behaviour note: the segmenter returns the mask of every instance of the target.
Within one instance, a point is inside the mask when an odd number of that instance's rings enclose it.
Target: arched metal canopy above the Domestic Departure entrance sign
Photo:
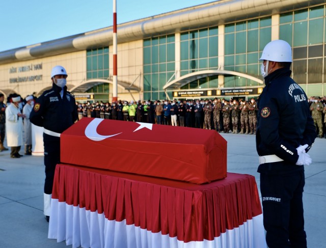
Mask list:
[[[167,90],[177,90],[180,89],[182,86],[185,86],[186,84],[189,84],[189,82],[195,81],[197,79],[203,78],[203,77],[208,77],[208,76],[214,76],[214,75],[234,75],[234,76],[240,76],[240,77],[245,77],[250,80],[256,81],[259,84],[263,84],[263,80],[248,75],[246,73],[241,73],[241,72],[236,72],[236,71],[227,71],[227,70],[205,70],[205,71],[196,71],[193,73],[189,73],[186,75],[183,75],[177,79],[174,79],[171,82],[168,82],[163,89],[165,91]]]

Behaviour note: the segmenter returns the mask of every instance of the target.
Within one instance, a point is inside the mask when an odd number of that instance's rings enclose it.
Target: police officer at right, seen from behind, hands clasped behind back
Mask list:
[[[292,49],[269,42],[260,58],[265,88],[258,100],[256,146],[268,247],[307,247],[304,230],[304,166],[316,137],[307,95],[290,77]]]

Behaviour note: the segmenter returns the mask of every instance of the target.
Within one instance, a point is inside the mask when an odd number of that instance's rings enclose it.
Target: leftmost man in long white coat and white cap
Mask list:
[[[20,96],[15,95],[12,97],[12,104],[6,108],[6,133],[7,133],[7,145],[11,147],[10,156],[12,158],[20,158],[18,152],[20,146],[23,145],[22,141],[22,118],[23,114],[19,109]]]

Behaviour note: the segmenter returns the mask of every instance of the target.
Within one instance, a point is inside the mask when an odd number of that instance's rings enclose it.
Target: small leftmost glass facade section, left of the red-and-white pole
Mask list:
[[[108,78],[108,47],[94,48],[86,51],[87,79]]]

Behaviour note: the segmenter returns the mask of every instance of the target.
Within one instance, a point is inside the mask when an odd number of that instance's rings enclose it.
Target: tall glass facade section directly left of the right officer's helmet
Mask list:
[[[224,69],[261,77],[259,56],[271,41],[271,16],[225,25]],[[258,82],[227,75],[224,87],[258,86]]]

